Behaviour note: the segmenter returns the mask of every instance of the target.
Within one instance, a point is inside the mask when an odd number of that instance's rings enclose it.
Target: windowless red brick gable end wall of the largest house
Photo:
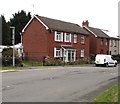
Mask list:
[[[41,61],[47,56],[46,28],[34,18],[23,33],[23,50],[26,60]]]

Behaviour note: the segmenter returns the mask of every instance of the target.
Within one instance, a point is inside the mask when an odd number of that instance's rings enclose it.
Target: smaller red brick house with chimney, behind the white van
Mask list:
[[[110,37],[101,29],[89,27],[88,21],[83,21],[82,26],[90,34],[90,55],[109,54]]]

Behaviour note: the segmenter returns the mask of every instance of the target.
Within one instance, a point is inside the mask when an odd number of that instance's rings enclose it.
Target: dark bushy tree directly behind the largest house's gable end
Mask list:
[[[20,43],[20,33],[30,18],[30,12],[27,14],[24,10],[21,10],[20,12],[13,14],[13,18],[10,19],[10,26],[15,27],[15,44]]]

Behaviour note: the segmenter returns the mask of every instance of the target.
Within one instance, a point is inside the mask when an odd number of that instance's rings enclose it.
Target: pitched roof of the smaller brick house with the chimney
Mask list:
[[[110,38],[106,33],[104,33],[101,29],[87,27],[90,31],[92,31],[97,37],[100,38]]]

